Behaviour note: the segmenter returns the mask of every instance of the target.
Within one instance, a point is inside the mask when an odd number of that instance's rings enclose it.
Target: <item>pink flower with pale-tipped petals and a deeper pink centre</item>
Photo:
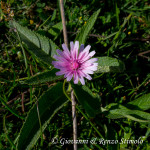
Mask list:
[[[81,44],[79,50],[79,42],[76,41],[75,44],[70,42],[70,51],[65,44],[62,44],[62,48],[64,51],[56,50],[59,56],[54,55],[57,61],[52,62],[55,68],[60,69],[56,75],[64,74],[67,81],[74,78],[74,84],[78,84],[80,80],[81,84],[84,85],[84,78],[91,80],[89,74],[93,74],[98,66],[98,63],[95,63],[98,59],[91,58],[95,55],[95,51],[89,53],[91,46],[88,45],[84,48],[84,45]]]

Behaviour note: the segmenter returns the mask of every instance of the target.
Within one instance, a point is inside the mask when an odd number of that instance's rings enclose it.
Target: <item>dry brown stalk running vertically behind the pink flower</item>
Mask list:
[[[68,37],[67,37],[67,29],[66,29],[66,21],[65,21],[65,12],[64,12],[64,3],[63,0],[60,0],[60,12],[63,24],[63,35],[64,42],[68,47]],[[71,88],[71,101],[72,101],[72,119],[73,119],[73,140],[77,140],[77,117],[76,117],[76,101],[73,89]],[[77,144],[74,142],[73,144],[74,150],[77,150]]]

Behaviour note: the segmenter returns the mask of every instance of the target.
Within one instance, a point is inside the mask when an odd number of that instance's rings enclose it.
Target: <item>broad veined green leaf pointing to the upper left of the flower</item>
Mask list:
[[[26,44],[29,51],[48,65],[51,64],[52,56],[56,53],[57,46],[52,40],[12,22],[17,29],[21,40]]]

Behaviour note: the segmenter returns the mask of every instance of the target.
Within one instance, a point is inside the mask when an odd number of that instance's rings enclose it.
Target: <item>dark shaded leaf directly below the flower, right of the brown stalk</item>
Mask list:
[[[78,101],[90,117],[95,117],[97,113],[100,113],[100,98],[97,95],[94,95],[86,86],[72,84],[72,88]]]

